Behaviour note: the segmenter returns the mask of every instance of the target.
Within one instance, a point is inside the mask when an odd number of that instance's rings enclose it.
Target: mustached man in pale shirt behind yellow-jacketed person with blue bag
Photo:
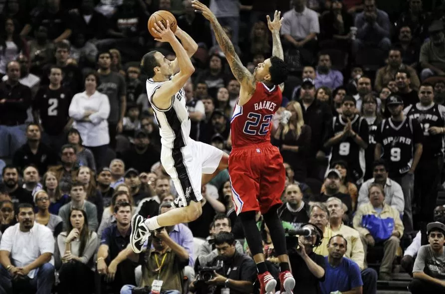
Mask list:
[[[367,180],[360,187],[357,207],[369,202],[368,188],[372,183],[381,184],[385,190],[385,202],[397,209],[403,215],[405,198],[402,187],[388,177],[388,168],[385,160],[379,159],[373,162],[373,178]]]

